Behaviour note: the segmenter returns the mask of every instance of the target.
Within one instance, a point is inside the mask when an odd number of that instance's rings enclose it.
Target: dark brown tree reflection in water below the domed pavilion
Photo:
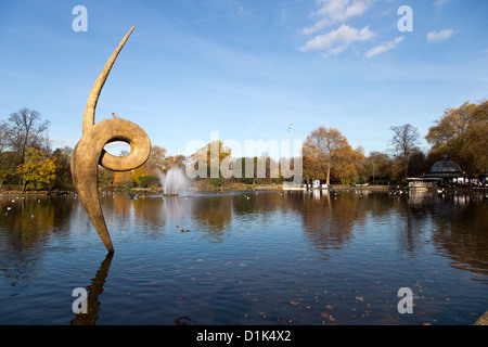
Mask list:
[[[478,194],[410,193],[399,210],[400,245],[418,252],[429,237],[460,268],[488,273],[488,210]]]

